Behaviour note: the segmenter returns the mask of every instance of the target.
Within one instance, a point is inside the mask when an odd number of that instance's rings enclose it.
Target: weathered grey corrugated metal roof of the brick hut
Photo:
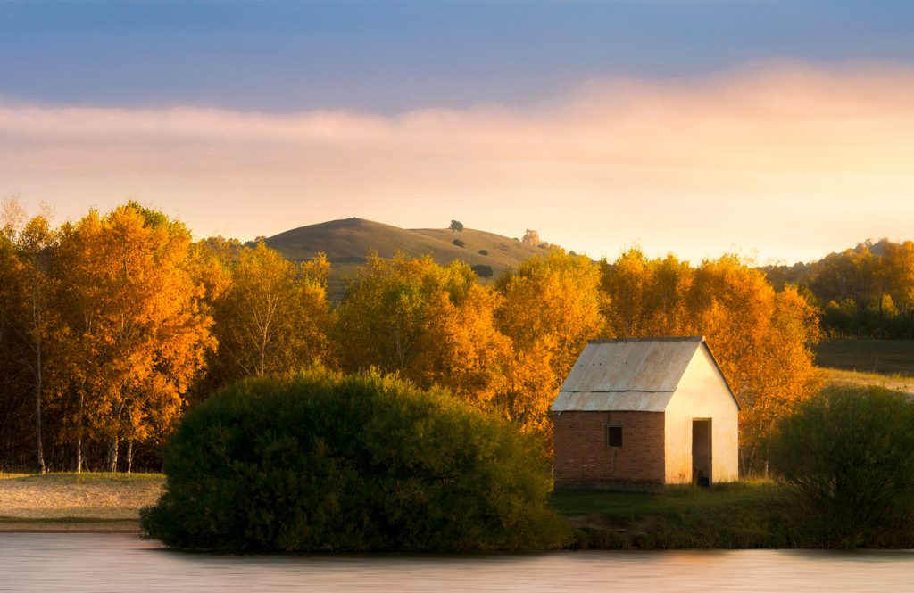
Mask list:
[[[701,337],[590,341],[550,409],[663,411],[702,342]]]

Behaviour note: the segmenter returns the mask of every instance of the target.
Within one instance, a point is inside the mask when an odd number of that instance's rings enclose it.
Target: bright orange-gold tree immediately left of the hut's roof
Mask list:
[[[599,267],[561,249],[527,259],[498,281],[495,323],[513,348],[497,402],[505,418],[548,433],[547,409],[558,387],[602,330],[599,287]]]

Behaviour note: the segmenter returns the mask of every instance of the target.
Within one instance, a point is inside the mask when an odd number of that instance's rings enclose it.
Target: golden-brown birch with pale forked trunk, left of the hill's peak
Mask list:
[[[303,263],[284,259],[262,241],[253,247],[209,239],[204,249],[221,263],[225,285],[213,301],[218,351],[209,387],[326,364],[330,262],[323,254]]]

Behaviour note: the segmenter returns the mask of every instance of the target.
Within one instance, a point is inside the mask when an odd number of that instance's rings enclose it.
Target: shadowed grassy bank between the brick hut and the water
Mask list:
[[[659,493],[556,492],[578,549],[792,547],[792,522],[771,482],[670,487]]]

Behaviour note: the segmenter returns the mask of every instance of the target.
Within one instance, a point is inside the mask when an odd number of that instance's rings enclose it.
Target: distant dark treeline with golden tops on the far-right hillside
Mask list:
[[[914,241],[866,241],[810,264],[762,268],[822,311],[833,338],[914,339]]]

